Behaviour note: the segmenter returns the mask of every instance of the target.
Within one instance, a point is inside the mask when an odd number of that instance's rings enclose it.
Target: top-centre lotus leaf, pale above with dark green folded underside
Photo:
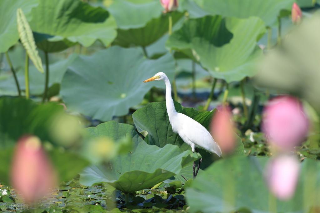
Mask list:
[[[117,0],[108,8],[115,17],[118,30],[115,45],[146,47],[168,32],[169,15],[175,24],[183,14],[164,14],[157,0]]]

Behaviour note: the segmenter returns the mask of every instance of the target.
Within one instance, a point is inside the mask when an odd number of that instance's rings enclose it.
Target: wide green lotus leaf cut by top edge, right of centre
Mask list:
[[[281,10],[291,11],[294,0],[195,0],[195,2],[211,15],[242,19],[255,16],[260,17],[267,26],[271,26],[276,22]]]

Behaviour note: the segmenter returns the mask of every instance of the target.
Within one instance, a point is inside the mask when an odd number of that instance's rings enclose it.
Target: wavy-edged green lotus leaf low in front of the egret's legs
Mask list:
[[[134,138],[134,147],[127,154],[111,160],[107,166],[92,165],[81,172],[80,183],[86,186],[108,183],[124,193],[133,193],[179,174],[184,165],[200,157],[190,150],[181,153],[179,147],[171,144],[163,148],[148,145],[129,124],[109,121],[89,129],[88,133],[114,140],[129,134]]]

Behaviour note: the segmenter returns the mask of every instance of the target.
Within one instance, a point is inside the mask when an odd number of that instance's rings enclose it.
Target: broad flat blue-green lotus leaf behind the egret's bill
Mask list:
[[[151,87],[164,88],[164,82],[142,83],[160,71],[173,77],[174,61],[169,53],[150,60],[141,48],[114,46],[76,58],[63,77],[61,94],[68,108],[108,121],[126,115]]]

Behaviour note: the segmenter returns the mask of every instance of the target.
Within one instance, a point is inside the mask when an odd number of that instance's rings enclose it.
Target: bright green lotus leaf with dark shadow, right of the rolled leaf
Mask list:
[[[30,26],[38,34],[37,42],[42,42],[39,47],[45,48],[45,51],[61,50],[63,45],[52,49],[43,40],[64,42],[67,48],[70,42],[88,47],[96,40],[108,46],[116,37],[116,21],[110,13],[82,1],[40,1],[32,9]]]

